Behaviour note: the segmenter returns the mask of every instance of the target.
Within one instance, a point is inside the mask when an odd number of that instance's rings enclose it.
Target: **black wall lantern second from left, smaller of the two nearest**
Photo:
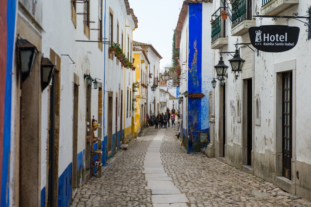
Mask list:
[[[54,73],[55,65],[50,61],[49,58],[41,58],[41,91],[43,91],[46,86],[49,85],[53,73]]]

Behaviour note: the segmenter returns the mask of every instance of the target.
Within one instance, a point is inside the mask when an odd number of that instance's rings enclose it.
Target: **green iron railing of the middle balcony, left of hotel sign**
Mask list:
[[[265,1],[265,0],[263,0]],[[232,5],[232,27],[246,19],[246,0],[235,0]]]

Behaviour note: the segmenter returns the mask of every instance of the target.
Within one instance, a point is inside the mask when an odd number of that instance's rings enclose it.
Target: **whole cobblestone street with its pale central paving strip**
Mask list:
[[[186,154],[175,130],[144,130],[107,161],[101,178],[78,189],[71,206],[311,206],[215,158]]]

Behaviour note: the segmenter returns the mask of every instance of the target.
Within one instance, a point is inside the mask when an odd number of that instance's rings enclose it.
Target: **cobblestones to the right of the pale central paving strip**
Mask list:
[[[188,197],[189,206],[311,206],[309,201],[216,158],[186,154],[174,134],[173,129],[166,130],[161,158],[166,173]]]

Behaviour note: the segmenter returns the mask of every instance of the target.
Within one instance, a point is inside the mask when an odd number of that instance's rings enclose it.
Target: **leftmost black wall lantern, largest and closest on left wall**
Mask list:
[[[38,54],[37,48],[26,39],[17,39],[18,64],[21,71],[21,81],[30,75]]]

